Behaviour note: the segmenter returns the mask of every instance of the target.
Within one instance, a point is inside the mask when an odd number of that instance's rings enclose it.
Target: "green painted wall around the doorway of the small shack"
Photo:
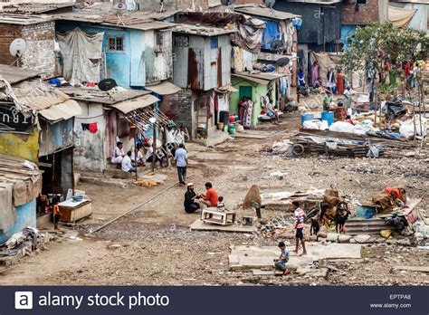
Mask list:
[[[235,76],[231,77],[231,82],[235,89],[238,90],[238,92],[234,92],[231,94],[231,102],[230,102],[230,111],[234,112],[235,115],[238,115],[238,101],[240,100],[240,86],[252,86],[253,87],[253,126],[257,126],[258,116],[261,113],[262,107],[261,107],[261,97],[267,95],[268,93],[268,85],[258,84],[253,81],[248,81],[243,78],[237,78]],[[272,100],[274,100],[274,104],[276,103],[276,95],[275,95],[275,82],[272,82],[273,89],[272,89]]]

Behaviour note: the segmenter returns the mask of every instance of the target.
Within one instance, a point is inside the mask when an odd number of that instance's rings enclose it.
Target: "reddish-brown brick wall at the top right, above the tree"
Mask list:
[[[367,0],[366,5],[359,5],[359,11],[355,10],[356,3],[343,4],[342,24],[365,25],[378,21],[378,1]]]

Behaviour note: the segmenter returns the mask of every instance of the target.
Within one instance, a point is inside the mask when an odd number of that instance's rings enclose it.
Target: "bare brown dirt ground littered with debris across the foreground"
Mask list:
[[[243,201],[250,186],[262,192],[337,187],[342,194],[367,200],[385,186],[405,186],[409,196],[424,198],[427,210],[428,159],[368,159],[272,157],[262,151],[276,138],[298,129],[297,115],[280,126],[262,124],[253,134],[267,138],[235,138],[215,148],[187,146],[190,154],[188,182],[197,193],[211,181],[228,208]],[[270,177],[275,171],[287,175]],[[368,244],[359,261],[337,262],[337,272],[327,279],[294,274],[285,277],[253,276],[230,272],[230,247],[239,244],[275,245],[279,240],[255,239],[252,234],[190,232],[188,225],[199,213],[183,209],[185,188],[174,186],[162,196],[88,236],[94,226],[143,203],[176,182],[176,169],[159,171],[168,176],[156,187],[126,189],[84,184],[93,201],[91,219],[81,222],[81,242],[48,243],[49,250],[33,254],[14,268],[0,273],[3,285],[427,285],[423,272],[391,272],[397,265],[427,266],[429,251],[398,245]],[[240,210],[239,215],[254,215]],[[427,213],[428,214],[428,213]],[[426,214],[426,215],[427,215]],[[264,218],[281,213],[262,211]],[[65,229],[65,227],[63,227]],[[85,236],[87,235],[87,236]],[[118,246],[111,246],[118,244]]]

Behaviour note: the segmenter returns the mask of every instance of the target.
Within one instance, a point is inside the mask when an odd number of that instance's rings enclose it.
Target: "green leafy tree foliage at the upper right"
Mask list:
[[[425,33],[397,28],[390,22],[359,27],[348,45],[341,64],[346,72],[364,70],[366,62],[373,62],[377,72],[383,72],[383,61],[392,69],[400,69],[403,62],[425,59],[429,52],[429,37]]]

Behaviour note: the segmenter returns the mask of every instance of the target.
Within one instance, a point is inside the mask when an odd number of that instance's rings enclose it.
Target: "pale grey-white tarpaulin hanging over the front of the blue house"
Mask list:
[[[71,82],[100,81],[100,59],[104,32],[89,34],[76,27],[57,33],[63,59],[63,75]]]

